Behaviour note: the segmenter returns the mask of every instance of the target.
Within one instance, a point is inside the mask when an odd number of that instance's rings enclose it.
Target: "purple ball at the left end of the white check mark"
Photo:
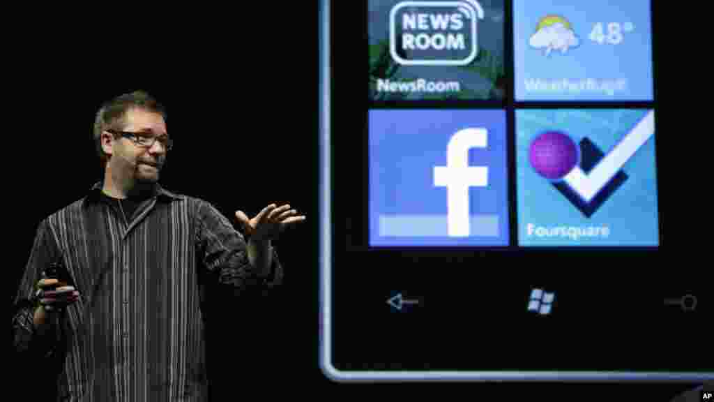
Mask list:
[[[548,180],[560,180],[580,162],[580,149],[568,134],[549,131],[531,142],[531,166]]]

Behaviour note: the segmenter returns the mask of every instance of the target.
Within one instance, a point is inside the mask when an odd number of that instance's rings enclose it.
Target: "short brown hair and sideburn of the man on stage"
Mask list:
[[[94,124],[92,124],[94,144],[103,170],[109,157],[101,147],[101,133],[106,129],[123,129],[126,125],[126,112],[134,108],[159,113],[161,117],[164,117],[164,122],[168,124],[166,107],[152,97],[149,92],[138,90],[129,94],[121,94],[104,102],[96,112]],[[117,138],[116,134],[113,135],[114,138]]]

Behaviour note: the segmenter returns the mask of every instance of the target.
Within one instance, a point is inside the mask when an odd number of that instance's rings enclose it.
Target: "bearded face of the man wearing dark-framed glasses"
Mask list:
[[[166,122],[161,114],[134,108],[126,112],[125,132],[134,132],[141,137],[166,137]],[[103,135],[109,135],[104,133]],[[111,137],[110,137],[111,138]],[[119,175],[133,176],[139,182],[156,182],[166,160],[166,149],[156,141],[151,147],[144,147],[134,139],[119,137],[114,140],[112,157],[109,160]]]

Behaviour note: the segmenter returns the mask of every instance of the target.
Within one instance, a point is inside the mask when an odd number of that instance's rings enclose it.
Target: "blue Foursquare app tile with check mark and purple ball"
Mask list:
[[[653,110],[518,110],[516,163],[519,245],[659,245]]]

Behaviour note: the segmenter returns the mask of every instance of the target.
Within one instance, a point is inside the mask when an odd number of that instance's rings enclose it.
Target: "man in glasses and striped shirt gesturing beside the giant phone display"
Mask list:
[[[106,102],[94,141],[104,179],[41,221],[15,298],[14,347],[38,385],[26,396],[54,384],[58,401],[206,401],[208,294],[240,303],[281,283],[271,241],[306,218],[236,211],[243,237],[210,203],[162,188],[173,140],[146,92]],[[42,276],[53,263],[66,286]]]

